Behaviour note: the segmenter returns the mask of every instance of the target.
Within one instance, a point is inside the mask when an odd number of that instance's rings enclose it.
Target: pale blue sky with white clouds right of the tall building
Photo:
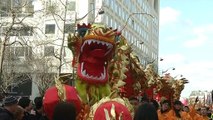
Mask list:
[[[161,0],[160,70],[182,74],[189,84],[182,91],[213,89],[213,0]]]

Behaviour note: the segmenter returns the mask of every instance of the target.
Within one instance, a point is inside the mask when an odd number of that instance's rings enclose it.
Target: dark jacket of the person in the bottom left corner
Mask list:
[[[14,120],[14,116],[7,109],[0,107],[0,120]]]

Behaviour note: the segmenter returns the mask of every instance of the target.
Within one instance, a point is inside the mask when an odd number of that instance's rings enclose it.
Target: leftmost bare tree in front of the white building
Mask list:
[[[7,4],[10,3],[10,4]],[[14,1],[13,1],[14,2]],[[19,54],[16,54],[17,52],[21,53],[20,51],[14,51],[14,49],[10,49],[10,46],[13,46],[14,44],[21,43],[20,41],[17,41],[16,39],[11,38],[11,36],[15,36],[15,32],[18,31],[19,33],[22,33],[22,30],[14,29],[15,26],[22,25],[23,21],[32,15],[32,13],[28,13],[24,16],[21,16],[22,12],[20,12],[20,7],[27,8],[28,4],[24,3],[20,5],[15,6],[12,1],[1,1],[0,11],[1,11],[1,22],[0,22],[0,28],[1,28],[1,49],[0,49],[0,90],[1,93],[6,93],[9,90],[9,88],[12,89],[12,86],[17,86],[25,81],[18,80],[20,79],[20,76],[23,76],[23,73],[21,71],[17,71],[20,69],[17,69],[17,56]],[[10,16],[10,17],[8,17]],[[21,16],[21,17],[19,17]],[[22,44],[20,44],[22,45]],[[4,69],[3,69],[4,68]],[[26,76],[28,76],[26,74]],[[27,79],[28,80],[28,79]]]

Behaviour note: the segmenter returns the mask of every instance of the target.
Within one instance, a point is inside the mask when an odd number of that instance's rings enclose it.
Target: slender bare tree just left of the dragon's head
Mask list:
[[[75,23],[72,23],[71,11],[75,10],[75,2],[68,0],[57,0],[54,3],[46,3],[46,15],[51,17],[59,30],[59,37],[56,41],[60,41],[61,45],[58,48],[58,54],[56,54],[56,58],[59,60],[58,73],[62,73],[62,66],[67,64],[64,59],[65,51],[67,49],[67,33],[73,32],[75,28]],[[59,7],[60,6],[60,7]],[[74,14],[76,14],[74,12]],[[75,22],[75,21],[74,21]],[[71,53],[69,53],[71,54]]]

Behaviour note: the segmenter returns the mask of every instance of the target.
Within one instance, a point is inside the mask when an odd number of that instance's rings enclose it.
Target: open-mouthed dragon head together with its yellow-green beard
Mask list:
[[[78,34],[69,36],[74,54],[76,89],[84,103],[94,104],[110,94],[108,64],[115,51],[117,30],[101,25],[78,25]]]

